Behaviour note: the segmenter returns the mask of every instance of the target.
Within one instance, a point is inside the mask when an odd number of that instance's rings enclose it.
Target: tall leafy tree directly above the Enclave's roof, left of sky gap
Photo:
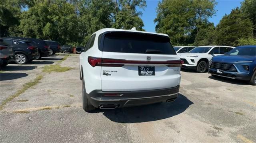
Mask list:
[[[140,16],[142,12],[138,12],[136,8],[145,8],[145,0],[116,0],[115,8],[112,14],[114,28],[131,29],[136,27],[137,30],[143,30],[144,26]]]

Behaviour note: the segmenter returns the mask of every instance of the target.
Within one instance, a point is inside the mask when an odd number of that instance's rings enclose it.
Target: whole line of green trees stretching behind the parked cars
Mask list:
[[[162,0],[156,9],[157,33],[173,45],[256,45],[256,0],[244,0],[217,26],[215,0]],[[138,8],[146,0],[0,0],[0,36],[21,36],[85,45],[105,27],[144,31]]]

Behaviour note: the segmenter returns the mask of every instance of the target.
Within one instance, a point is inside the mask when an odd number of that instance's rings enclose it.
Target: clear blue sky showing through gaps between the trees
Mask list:
[[[147,7],[144,8],[144,10],[139,9],[143,13],[141,16],[144,22],[143,28],[148,32],[155,32],[156,24],[154,24],[154,19],[156,18],[158,1],[159,0],[146,0]],[[216,26],[225,14],[230,14],[232,9],[240,7],[242,1],[243,0],[216,0],[216,2],[218,2],[215,7],[215,10],[217,10],[216,16],[212,16],[209,21],[213,22]]]

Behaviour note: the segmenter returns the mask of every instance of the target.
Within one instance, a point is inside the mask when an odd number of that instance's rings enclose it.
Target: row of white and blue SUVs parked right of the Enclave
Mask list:
[[[256,45],[176,46],[174,50],[184,61],[184,69],[194,69],[199,73],[208,71],[214,77],[246,80],[256,85]]]

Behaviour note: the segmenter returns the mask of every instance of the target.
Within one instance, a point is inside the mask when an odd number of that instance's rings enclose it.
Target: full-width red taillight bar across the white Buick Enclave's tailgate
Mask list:
[[[129,61],[123,59],[107,59],[107,58],[97,58],[88,57],[88,62],[92,67],[102,66],[102,67],[122,67],[125,64],[152,64],[152,65],[166,65],[168,67],[180,67],[184,63],[182,60],[174,61]]]

